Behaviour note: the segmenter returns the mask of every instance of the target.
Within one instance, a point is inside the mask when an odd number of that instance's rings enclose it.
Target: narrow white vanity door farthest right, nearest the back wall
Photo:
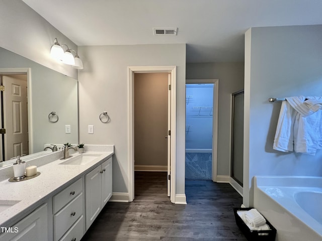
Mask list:
[[[102,207],[112,196],[112,158],[102,164]]]

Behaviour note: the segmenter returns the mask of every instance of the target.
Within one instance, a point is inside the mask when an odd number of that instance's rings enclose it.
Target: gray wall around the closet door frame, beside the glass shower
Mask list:
[[[187,63],[187,79],[219,79],[217,175],[230,175],[231,93],[244,88],[244,63]]]

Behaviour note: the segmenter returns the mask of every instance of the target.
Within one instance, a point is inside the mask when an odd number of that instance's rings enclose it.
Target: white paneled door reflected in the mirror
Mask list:
[[[27,74],[3,76],[5,160],[29,154]]]

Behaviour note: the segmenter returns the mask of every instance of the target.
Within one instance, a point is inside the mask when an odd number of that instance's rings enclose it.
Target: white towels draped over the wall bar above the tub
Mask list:
[[[322,148],[322,97],[287,97],[282,102],[273,149],[315,155]]]

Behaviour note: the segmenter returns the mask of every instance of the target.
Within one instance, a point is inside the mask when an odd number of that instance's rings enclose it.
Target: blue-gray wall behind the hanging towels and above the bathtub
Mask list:
[[[281,102],[268,102],[321,95],[322,25],[252,28],[245,37],[243,203],[252,206],[255,175],[322,175],[322,150],[315,156],[273,150]]]

